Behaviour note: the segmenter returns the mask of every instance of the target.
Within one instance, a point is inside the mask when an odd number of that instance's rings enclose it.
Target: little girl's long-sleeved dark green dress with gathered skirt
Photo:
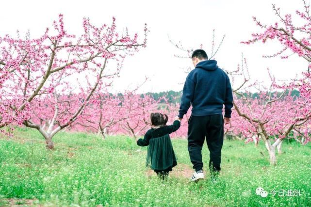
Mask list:
[[[147,131],[144,139],[139,139],[139,146],[147,146],[146,165],[154,171],[172,171],[177,165],[169,134],[180,127],[180,121],[174,121],[173,125],[159,128],[151,128]]]

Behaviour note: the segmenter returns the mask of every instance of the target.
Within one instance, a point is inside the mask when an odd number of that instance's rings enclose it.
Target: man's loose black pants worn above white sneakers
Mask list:
[[[191,115],[188,124],[188,151],[193,168],[196,171],[203,169],[201,150],[206,138],[210,150],[210,171],[219,173],[221,148],[224,143],[223,115]]]

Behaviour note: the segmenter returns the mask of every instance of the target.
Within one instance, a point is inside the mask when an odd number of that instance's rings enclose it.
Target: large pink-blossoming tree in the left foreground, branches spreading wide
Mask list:
[[[0,128],[23,124],[52,136],[56,126],[79,119],[97,88],[111,85],[127,56],[146,47],[147,25],[142,40],[128,30],[120,34],[114,17],[100,27],[84,18],[82,28],[81,36],[69,34],[61,14],[39,38],[30,32],[25,38],[19,32],[0,37]],[[49,132],[38,124],[47,119]]]

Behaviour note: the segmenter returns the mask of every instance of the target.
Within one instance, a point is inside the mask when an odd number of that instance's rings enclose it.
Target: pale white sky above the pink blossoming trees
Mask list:
[[[242,45],[259,32],[252,16],[265,24],[274,23],[277,17],[272,3],[281,7],[281,12],[295,15],[302,10],[301,0],[6,0],[0,5],[0,36],[21,34],[28,29],[33,37],[41,35],[58,14],[64,14],[65,29],[69,33],[81,33],[82,18],[90,17],[97,26],[110,24],[116,17],[118,30],[126,26],[130,32],[141,32],[147,23],[147,48],[128,57],[120,78],[114,81],[114,90],[123,91],[144,81],[140,92],[180,91],[186,74],[181,68],[191,65],[191,60],[174,57],[179,51],[168,41],[167,35],[175,42],[181,41],[184,47],[203,49],[210,54],[213,29],[216,41],[223,34],[226,38],[215,59],[218,65],[227,70],[236,69],[241,62],[241,53],[247,58],[252,78],[268,81],[266,68],[269,67],[278,79],[289,79],[307,68],[307,62],[293,55],[288,60],[280,58],[264,59],[262,55],[278,52],[279,44],[269,43]],[[217,42],[216,42],[217,44]]]

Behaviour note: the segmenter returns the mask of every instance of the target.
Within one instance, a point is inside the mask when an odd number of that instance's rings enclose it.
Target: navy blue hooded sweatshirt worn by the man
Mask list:
[[[190,105],[194,116],[222,114],[225,105],[225,117],[230,118],[232,101],[228,75],[217,66],[215,60],[201,61],[186,78],[178,116],[182,118]]]

